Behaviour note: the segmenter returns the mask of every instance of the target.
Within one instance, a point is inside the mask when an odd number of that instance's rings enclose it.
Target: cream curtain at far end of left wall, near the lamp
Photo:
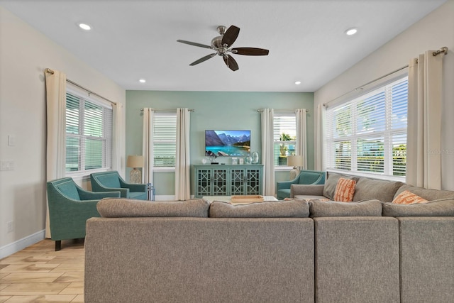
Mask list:
[[[121,131],[123,129],[122,126],[124,125],[123,104],[112,104],[112,112],[114,116],[114,133],[112,136],[112,170],[116,170],[120,175],[123,175],[125,167],[122,165],[124,161],[121,160],[120,153],[121,146],[123,146],[121,141],[122,138],[124,138],[123,131]]]

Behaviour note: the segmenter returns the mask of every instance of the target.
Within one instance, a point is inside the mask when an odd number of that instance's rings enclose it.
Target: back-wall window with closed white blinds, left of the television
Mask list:
[[[177,113],[156,112],[153,122],[155,167],[175,167],[177,157]]]

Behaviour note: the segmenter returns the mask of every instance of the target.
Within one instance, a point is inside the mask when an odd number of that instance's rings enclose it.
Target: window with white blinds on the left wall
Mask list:
[[[112,166],[112,107],[66,94],[66,172]]]

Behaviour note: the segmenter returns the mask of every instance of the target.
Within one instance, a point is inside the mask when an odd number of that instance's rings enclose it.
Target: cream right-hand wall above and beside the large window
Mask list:
[[[356,87],[408,65],[411,57],[426,50],[449,48],[443,62],[442,155],[443,189],[454,190],[454,0],[448,0],[428,16],[397,35],[371,55],[314,93],[318,104],[341,97]],[[335,55],[335,53],[333,53]],[[317,123],[317,121],[316,121]]]

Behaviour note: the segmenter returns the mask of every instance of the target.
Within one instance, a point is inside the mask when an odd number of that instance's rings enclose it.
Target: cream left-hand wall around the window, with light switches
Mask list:
[[[46,67],[126,104],[123,88],[0,6],[0,160],[15,163],[14,170],[0,171],[0,258],[44,235]],[[119,153],[124,160],[124,144]]]

